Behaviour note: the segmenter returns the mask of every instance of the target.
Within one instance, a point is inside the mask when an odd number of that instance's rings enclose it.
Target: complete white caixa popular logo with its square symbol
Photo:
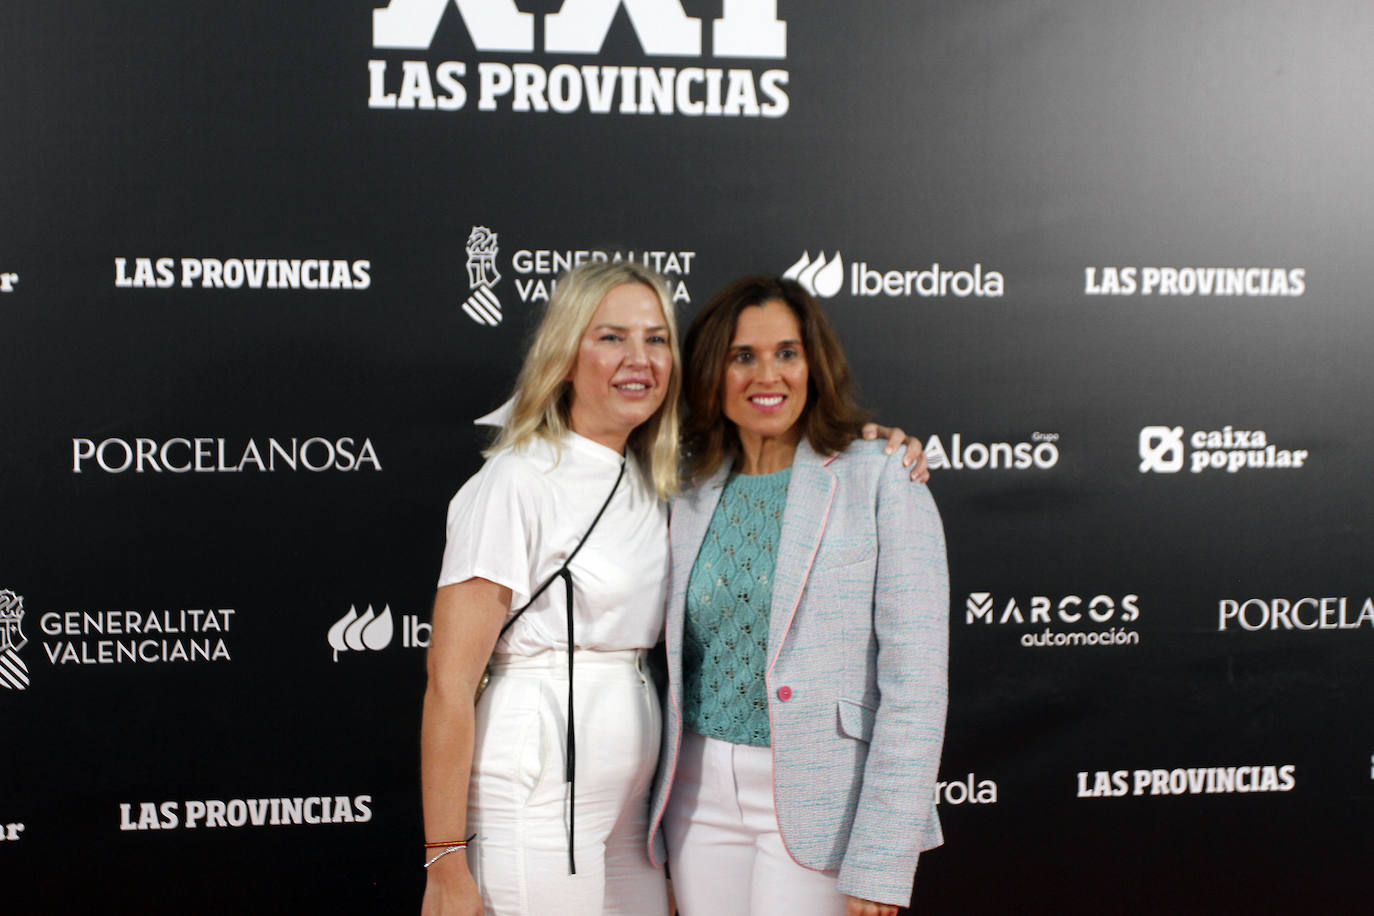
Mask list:
[[[1191,446],[1187,452],[1184,445]],[[1178,474],[1184,466],[1193,474],[1250,470],[1301,468],[1307,449],[1281,449],[1264,430],[1195,430],[1184,435],[1182,426],[1146,426],[1139,435],[1140,474]]]

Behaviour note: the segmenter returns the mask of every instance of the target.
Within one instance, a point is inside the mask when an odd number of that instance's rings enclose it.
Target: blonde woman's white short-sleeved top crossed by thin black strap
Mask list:
[[[511,589],[522,607],[577,547],[606,501],[621,456],[569,434],[504,449],[448,504],[440,586],[480,577]],[[633,457],[606,514],[570,566],[580,648],[651,648],[664,629],[668,589],[668,507]],[[555,581],[496,644],[533,655],[567,648],[566,586]],[[508,618],[507,618],[508,619]]]

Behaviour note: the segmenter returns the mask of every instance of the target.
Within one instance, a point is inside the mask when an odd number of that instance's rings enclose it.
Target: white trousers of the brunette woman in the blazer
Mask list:
[[[798,865],[778,829],[772,748],[683,732],[664,839],[682,916],[844,916],[838,872]]]

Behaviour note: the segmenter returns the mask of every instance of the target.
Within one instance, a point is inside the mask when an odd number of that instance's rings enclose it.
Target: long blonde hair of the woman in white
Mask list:
[[[488,456],[507,448],[519,449],[534,437],[558,442],[567,434],[572,428],[569,422],[572,383],[567,378],[577,363],[583,334],[592,323],[592,314],[606,294],[624,283],[642,283],[658,297],[673,357],[664,402],[653,416],[635,427],[625,450],[639,460],[660,499],[668,499],[677,492],[679,401],[683,378],[677,320],[673,316],[668,282],[633,261],[583,264],[558,280],[525,354],[519,378],[515,380],[510,417],[496,442],[486,450]]]

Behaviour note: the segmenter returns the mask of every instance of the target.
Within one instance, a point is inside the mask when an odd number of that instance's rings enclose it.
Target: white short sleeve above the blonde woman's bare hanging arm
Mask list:
[[[480,577],[508,588],[511,607],[529,602],[543,490],[537,470],[508,452],[469,479],[448,504],[440,588]]]

